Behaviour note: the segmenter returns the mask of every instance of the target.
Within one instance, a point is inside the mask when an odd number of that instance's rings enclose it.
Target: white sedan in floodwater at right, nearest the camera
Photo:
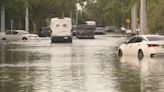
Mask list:
[[[144,56],[164,55],[164,36],[137,35],[118,49],[118,56],[137,55],[139,59]]]

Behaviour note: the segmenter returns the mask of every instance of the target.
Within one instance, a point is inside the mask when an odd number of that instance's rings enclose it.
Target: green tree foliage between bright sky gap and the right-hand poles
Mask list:
[[[96,3],[88,1],[86,15],[95,20],[99,25],[126,24],[126,18],[130,18],[131,6],[136,0],[97,0]]]

